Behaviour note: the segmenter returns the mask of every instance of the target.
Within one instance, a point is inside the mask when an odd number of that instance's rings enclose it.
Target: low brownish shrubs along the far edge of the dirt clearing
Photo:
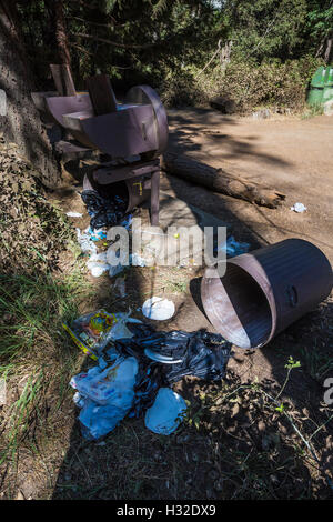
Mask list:
[[[263,106],[299,111],[304,107],[309,81],[322,63],[321,59],[304,57],[258,64],[235,57],[225,70],[219,66],[204,73],[194,68],[169,72],[162,98],[169,107],[208,104],[213,98],[223,97],[232,100],[241,113]]]

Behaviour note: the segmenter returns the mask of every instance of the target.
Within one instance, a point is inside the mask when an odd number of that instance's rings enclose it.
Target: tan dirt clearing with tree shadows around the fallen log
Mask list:
[[[172,110],[170,149],[226,171],[263,181],[286,195],[278,210],[164,178],[162,188],[229,221],[242,237],[259,244],[303,238],[320,247],[333,262],[333,118],[253,120],[213,110]],[[290,211],[295,202],[307,212]]]

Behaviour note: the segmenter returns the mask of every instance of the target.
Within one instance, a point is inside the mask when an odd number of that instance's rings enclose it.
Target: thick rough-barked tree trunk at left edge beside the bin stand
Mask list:
[[[60,170],[52,147],[32,102],[32,77],[18,23],[16,1],[0,0],[0,89],[7,97],[7,113],[0,131],[41,172],[42,182],[56,187]]]

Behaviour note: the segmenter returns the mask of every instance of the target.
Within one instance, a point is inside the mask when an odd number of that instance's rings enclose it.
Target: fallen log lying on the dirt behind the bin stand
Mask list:
[[[223,169],[214,169],[184,154],[165,152],[161,167],[165,172],[183,178],[191,183],[270,209],[275,209],[285,199],[284,194],[269,187],[262,187],[253,181],[228,173]]]

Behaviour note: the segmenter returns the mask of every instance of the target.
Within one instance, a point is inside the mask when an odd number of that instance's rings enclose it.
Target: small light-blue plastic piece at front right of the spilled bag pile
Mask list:
[[[145,426],[161,435],[173,433],[182,421],[186,403],[181,395],[170,388],[160,388],[155,402],[147,411]]]

